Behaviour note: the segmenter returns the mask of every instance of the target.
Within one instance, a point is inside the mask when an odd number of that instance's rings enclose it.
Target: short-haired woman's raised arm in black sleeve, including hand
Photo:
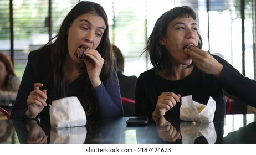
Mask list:
[[[218,78],[223,90],[256,107],[256,81],[240,74],[231,64],[219,56],[211,55],[201,49],[190,47],[190,58],[203,73]]]

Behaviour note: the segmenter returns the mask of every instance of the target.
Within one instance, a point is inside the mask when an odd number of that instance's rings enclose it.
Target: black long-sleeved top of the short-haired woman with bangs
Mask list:
[[[192,95],[193,101],[207,104],[209,97],[216,101],[214,120],[223,119],[226,113],[226,102],[223,90],[256,107],[256,81],[243,76],[227,61],[213,55],[223,64],[221,76],[217,79],[213,75],[205,74],[196,66],[192,73],[184,79],[170,81],[156,74],[154,69],[142,73],[136,84],[136,116],[152,116],[156,108],[158,96],[162,92],[175,92],[182,96]],[[181,101],[181,98],[180,98]],[[177,103],[165,116],[179,116],[181,104]]]

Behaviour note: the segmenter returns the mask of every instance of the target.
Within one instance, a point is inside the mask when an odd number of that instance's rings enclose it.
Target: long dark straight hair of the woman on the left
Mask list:
[[[107,19],[107,14],[104,11],[104,8],[100,6],[98,3],[94,2],[85,2],[81,1],[74,6],[73,9],[68,13],[68,15],[63,20],[62,25],[60,25],[60,29],[58,34],[49,40],[49,42],[43,46],[43,48],[47,48],[48,46],[52,46],[52,70],[50,71],[49,79],[52,79],[54,82],[55,92],[57,93],[58,97],[65,97],[65,70],[63,68],[66,55],[68,54],[68,34],[67,31],[73,23],[73,21],[80,16],[81,14],[92,13],[97,14],[98,16],[104,19],[106,24],[106,29],[101,38],[101,42],[96,50],[99,51],[101,57],[105,60],[103,68],[101,69],[100,79],[101,81],[106,81],[112,75],[114,70],[114,54],[111,50],[111,44],[109,39],[109,24]],[[54,39],[56,39],[54,41]],[[52,43],[53,42],[53,43]],[[88,75],[86,71],[86,65],[83,63],[81,67],[82,74]],[[49,83],[49,81],[48,81]],[[96,112],[96,106],[94,103],[93,95],[91,92],[91,82],[89,77],[86,76],[85,82],[85,94],[84,94],[84,101],[86,101],[86,113],[91,114]]]

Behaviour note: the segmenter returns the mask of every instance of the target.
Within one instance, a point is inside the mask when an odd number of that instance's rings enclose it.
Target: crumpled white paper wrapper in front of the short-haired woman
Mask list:
[[[197,107],[203,108],[201,112]],[[181,98],[180,119],[183,121],[196,122],[212,122],[214,112],[216,110],[216,102],[209,97],[207,105],[199,104],[192,100],[192,95]]]

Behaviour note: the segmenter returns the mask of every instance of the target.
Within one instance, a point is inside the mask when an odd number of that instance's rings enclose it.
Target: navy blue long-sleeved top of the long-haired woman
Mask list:
[[[48,81],[48,74],[50,71],[51,64],[52,63],[50,60],[50,50],[37,50],[29,53],[28,64],[25,68],[21,85],[18,90],[17,98],[12,108],[11,118],[25,118],[25,111],[27,111],[28,108],[28,95],[31,91],[33,91],[34,83],[40,82],[44,84],[44,86],[46,85]],[[88,75],[81,74],[71,84],[66,84],[66,97],[78,97],[79,101],[81,102],[81,105],[84,108],[84,105],[86,104],[86,101],[83,100],[83,96],[85,94],[84,85],[86,76]],[[49,83],[46,90],[46,102],[47,104],[52,104],[53,100],[58,99],[53,84]],[[96,116],[113,117],[123,115],[119,81],[117,78],[116,68],[112,76],[107,81],[101,82],[101,84],[95,89],[91,87],[91,90],[96,105],[98,106],[98,112],[96,113]],[[49,117],[49,106],[44,107],[39,117]]]

